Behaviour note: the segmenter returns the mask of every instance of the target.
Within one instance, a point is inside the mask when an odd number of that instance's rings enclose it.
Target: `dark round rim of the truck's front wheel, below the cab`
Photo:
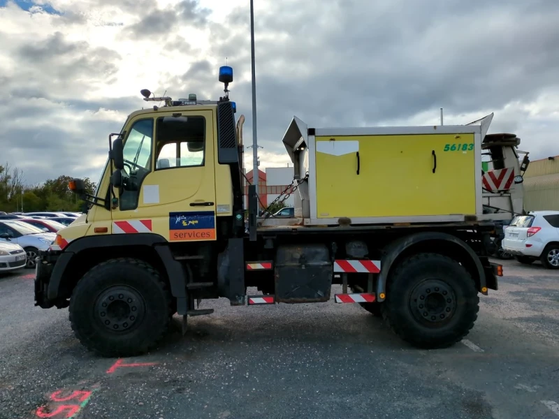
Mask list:
[[[125,285],[107,288],[97,297],[94,316],[113,332],[129,331],[145,315],[145,301],[134,288]]]

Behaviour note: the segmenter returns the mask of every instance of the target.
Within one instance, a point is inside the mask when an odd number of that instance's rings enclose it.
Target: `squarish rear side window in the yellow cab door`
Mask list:
[[[156,141],[155,170],[204,166],[205,118],[160,117]]]

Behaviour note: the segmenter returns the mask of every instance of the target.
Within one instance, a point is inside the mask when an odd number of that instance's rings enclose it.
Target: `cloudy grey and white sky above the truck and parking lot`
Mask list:
[[[254,0],[261,168],[309,126],[466,124],[495,112],[532,160],[559,154],[559,1]],[[95,182],[140,89],[217,100],[252,142],[249,0],[0,0],[0,164]],[[252,166],[252,149],[245,150]]]

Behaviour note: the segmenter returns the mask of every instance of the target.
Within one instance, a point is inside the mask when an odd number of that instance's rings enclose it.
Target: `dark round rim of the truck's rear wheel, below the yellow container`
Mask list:
[[[425,279],[410,294],[409,308],[420,323],[434,326],[456,313],[456,295],[441,279]]]

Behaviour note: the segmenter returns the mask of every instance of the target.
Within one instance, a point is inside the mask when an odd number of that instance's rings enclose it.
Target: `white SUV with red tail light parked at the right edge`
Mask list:
[[[559,269],[559,211],[532,211],[514,217],[504,230],[502,249],[520,263],[539,259],[549,269]]]

